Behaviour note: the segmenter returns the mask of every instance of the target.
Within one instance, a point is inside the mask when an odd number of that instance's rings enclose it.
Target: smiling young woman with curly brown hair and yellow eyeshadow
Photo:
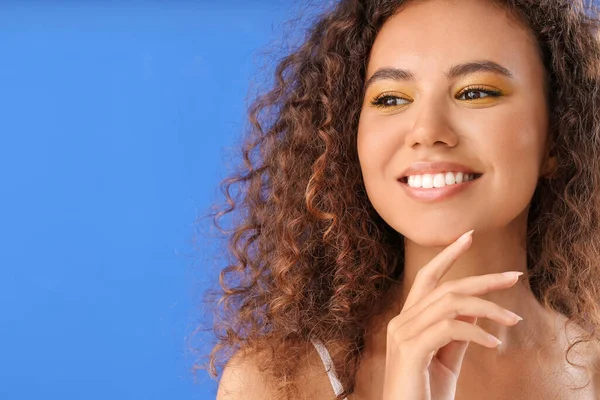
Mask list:
[[[600,398],[591,5],[342,0],[276,76],[218,399]]]

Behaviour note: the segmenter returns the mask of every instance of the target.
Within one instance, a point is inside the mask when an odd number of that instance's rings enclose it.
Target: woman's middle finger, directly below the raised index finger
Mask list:
[[[506,274],[498,273],[469,276],[467,278],[444,282],[434,291],[427,294],[421,302],[403,312],[402,315],[406,321],[411,320],[431,303],[448,293],[481,296],[494,290],[509,288],[517,283],[520,274],[522,274],[522,272],[511,271]]]

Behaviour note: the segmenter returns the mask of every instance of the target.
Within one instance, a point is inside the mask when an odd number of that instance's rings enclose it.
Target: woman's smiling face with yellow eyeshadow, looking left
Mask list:
[[[369,199],[391,227],[443,246],[469,229],[526,223],[548,128],[536,46],[504,10],[480,0],[414,2],[384,24],[370,54],[357,146]],[[483,175],[449,196],[416,199],[410,193],[448,189],[401,183],[419,161]],[[427,186],[425,172],[411,175]]]

